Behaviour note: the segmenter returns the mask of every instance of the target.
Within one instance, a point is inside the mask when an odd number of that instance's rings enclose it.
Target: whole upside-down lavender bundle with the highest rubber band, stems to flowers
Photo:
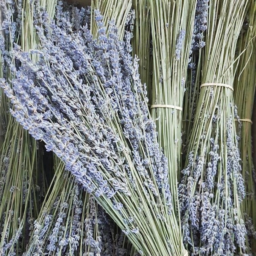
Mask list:
[[[245,9],[243,0],[209,2],[203,84],[178,187],[183,241],[193,255],[248,252],[233,101],[236,41]]]

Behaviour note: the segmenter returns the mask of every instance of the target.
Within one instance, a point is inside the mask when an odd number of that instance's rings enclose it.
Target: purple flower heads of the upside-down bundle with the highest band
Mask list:
[[[212,125],[213,135],[217,128],[214,116]],[[203,132],[198,148],[188,154],[182,170],[178,195],[183,241],[194,255],[247,251],[247,231],[239,209],[239,202],[245,196],[244,182],[233,131],[229,117],[226,150],[218,137],[207,138]],[[207,144],[210,148],[205,148]],[[225,154],[226,160],[222,158]]]

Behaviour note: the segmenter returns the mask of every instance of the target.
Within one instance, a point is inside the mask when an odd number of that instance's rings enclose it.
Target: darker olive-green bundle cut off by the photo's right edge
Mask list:
[[[242,203],[244,210],[245,225],[250,238],[250,245],[256,243],[256,173],[252,159],[252,112],[256,86],[256,1],[249,2],[247,17],[244,23],[247,24],[247,32],[241,33],[238,42],[237,52],[242,53],[236,71],[234,84],[234,100],[238,108],[239,129],[241,139],[239,150],[241,151],[242,175],[245,183],[246,197]]]

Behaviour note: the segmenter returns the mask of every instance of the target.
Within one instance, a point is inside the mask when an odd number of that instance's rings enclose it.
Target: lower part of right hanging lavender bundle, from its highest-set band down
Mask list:
[[[183,239],[196,255],[247,250],[240,208],[245,191],[236,111],[232,86],[201,85],[189,153],[178,187]]]

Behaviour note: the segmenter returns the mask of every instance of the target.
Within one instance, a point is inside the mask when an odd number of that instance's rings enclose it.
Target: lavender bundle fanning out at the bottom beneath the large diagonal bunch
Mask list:
[[[129,255],[123,248],[124,234],[115,237],[108,215],[58,159],[41,212],[31,224],[26,256]]]

